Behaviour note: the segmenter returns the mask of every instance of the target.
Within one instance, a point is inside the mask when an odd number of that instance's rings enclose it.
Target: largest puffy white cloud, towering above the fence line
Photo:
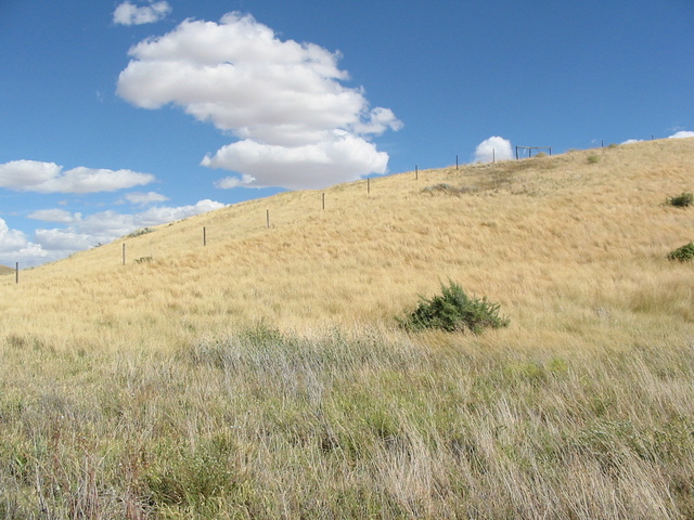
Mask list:
[[[386,172],[388,156],[370,139],[402,123],[343,84],[338,53],[283,41],[253,16],[229,13],[219,23],[187,20],[130,55],[121,98],[180,106],[236,138],[202,160],[237,173],[220,187],[318,187]]]

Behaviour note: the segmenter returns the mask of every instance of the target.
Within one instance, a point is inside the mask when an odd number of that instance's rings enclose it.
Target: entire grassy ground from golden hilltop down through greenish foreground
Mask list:
[[[693,518],[693,172],[420,170],[0,278],[0,516]],[[397,328],[449,280],[510,326]]]

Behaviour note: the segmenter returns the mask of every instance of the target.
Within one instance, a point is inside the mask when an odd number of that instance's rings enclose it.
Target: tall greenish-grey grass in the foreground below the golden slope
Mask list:
[[[3,518],[694,515],[694,348],[256,327],[1,352]],[[434,344],[434,347],[432,347]]]

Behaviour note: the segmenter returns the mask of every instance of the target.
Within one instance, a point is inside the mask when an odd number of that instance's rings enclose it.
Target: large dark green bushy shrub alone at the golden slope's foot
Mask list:
[[[468,297],[460,285],[450,282],[441,284],[441,295],[432,299],[420,297],[417,308],[403,318],[396,318],[400,326],[409,330],[436,328],[447,332],[470,330],[479,334],[487,327],[499,328],[509,325],[509,318],[499,316],[499,306],[487,298]]]

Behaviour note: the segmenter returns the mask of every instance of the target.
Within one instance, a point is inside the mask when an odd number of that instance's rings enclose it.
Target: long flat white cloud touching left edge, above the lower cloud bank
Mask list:
[[[0,165],[0,187],[37,193],[113,192],[155,180],[150,173],[77,167],[63,171],[62,166],[38,160],[12,160]]]

